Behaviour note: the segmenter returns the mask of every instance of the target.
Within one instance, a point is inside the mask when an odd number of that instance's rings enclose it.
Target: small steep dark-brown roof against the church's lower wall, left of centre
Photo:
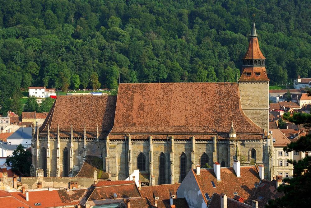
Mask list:
[[[86,159],[76,177],[93,178],[94,171],[97,171],[97,178],[108,179],[108,173],[103,170],[103,160],[93,155],[86,155]]]

